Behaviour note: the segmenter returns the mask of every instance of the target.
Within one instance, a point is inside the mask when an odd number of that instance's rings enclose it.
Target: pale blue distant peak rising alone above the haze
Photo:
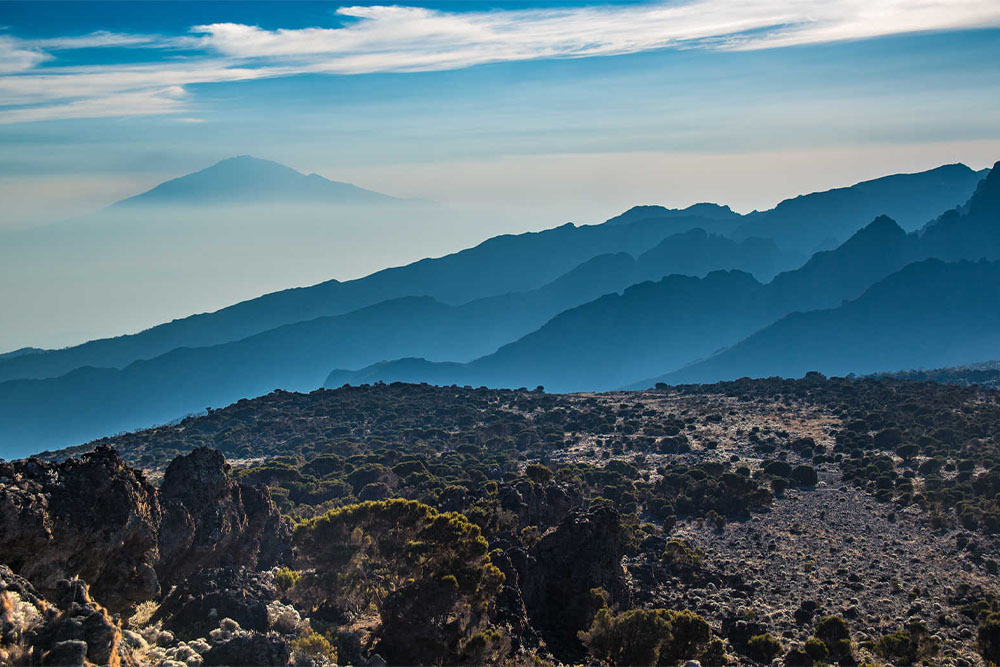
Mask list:
[[[113,208],[206,204],[386,204],[401,200],[350,183],[303,174],[291,167],[240,155],[124,199]]]

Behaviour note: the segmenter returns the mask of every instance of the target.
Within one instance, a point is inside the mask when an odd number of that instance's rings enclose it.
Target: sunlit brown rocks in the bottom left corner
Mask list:
[[[56,583],[54,601],[0,566],[0,664],[133,664],[122,632],[79,579]]]

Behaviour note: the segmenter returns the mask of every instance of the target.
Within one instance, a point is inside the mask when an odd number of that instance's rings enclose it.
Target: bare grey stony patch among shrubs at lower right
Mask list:
[[[951,601],[962,584],[995,588],[997,578],[957,552],[960,532],[931,531],[919,513],[879,503],[836,475],[823,477],[815,490],[788,491],[769,512],[722,530],[677,526],[675,534],[703,550],[710,568],[737,575],[745,589],[682,587],[664,592],[663,603],[720,624],[753,615],[790,642],[804,642],[815,619],[828,614],[845,618],[859,643],[916,617],[940,641],[939,664],[982,664],[976,623]]]

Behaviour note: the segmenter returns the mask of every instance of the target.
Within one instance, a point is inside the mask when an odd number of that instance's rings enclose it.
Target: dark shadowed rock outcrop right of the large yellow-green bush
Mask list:
[[[592,589],[603,589],[612,604],[627,605],[624,546],[618,513],[600,506],[574,510],[530,552],[508,552],[532,625],[557,658],[582,656],[577,633],[587,629],[599,606]]]

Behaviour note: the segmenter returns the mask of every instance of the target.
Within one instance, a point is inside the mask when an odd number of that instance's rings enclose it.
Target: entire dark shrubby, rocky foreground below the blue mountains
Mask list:
[[[276,392],[0,464],[2,641],[15,664],[985,665],[998,435],[997,392],[898,379]],[[81,614],[107,630],[58,630]]]

